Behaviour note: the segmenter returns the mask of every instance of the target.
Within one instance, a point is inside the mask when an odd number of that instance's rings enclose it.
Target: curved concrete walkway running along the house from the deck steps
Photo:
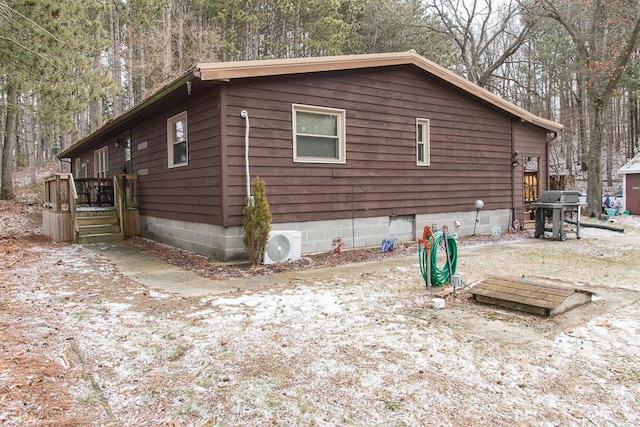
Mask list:
[[[189,270],[168,264],[153,255],[122,242],[94,243],[83,246],[115,264],[118,270],[129,279],[135,280],[149,288],[185,297],[224,294],[292,281],[309,281],[360,271],[373,272],[388,270],[397,266],[408,267],[414,264],[417,266],[418,264],[417,257],[390,258],[386,261],[302,271],[288,271],[271,275],[254,276],[246,279],[229,279],[223,281],[198,276]]]

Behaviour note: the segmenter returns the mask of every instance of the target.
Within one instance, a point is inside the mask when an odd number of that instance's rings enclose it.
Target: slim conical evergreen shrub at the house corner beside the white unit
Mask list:
[[[242,214],[242,241],[251,265],[257,266],[262,261],[271,231],[271,211],[267,201],[266,185],[259,176],[253,180],[253,198],[247,200]]]

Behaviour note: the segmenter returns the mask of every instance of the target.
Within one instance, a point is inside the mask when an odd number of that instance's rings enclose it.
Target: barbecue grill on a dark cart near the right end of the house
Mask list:
[[[535,209],[535,236],[564,241],[567,240],[567,233],[576,233],[576,238],[579,239],[582,206],[586,206],[586,203],[580,202],[578,191],[545,191],[538,200],[531,203],[531,207]],[[576,214],[575,228],[565,227],[564,219],[573,218],[574,213]],[[551,232],[551,236],[545,235],[545,232]]]

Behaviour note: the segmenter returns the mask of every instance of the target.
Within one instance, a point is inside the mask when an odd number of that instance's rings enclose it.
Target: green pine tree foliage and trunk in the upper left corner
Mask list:
[[[94,67],[92,52],[101,41],[90,10],[98,0],[7,2],[0,0],[0,100],[7,123],[0,127],[2,183],[0,199],[12,199],[12,167],[18,139],[70,141],[76,136],[76,114],[88,100],[111,90],[101,67]],[[105,87],[103,87],[105,86]],[[37,120],[25,129],[19,120],[25,100],[35,105]],[[36,131],[37,130],[37,131]],[[61,147],[65,148],[65,147]]]

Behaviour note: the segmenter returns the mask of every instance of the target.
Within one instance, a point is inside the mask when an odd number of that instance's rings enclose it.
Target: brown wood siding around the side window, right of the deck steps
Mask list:
[[[167,119],[185,110],[189,162],[169,168]],[[222,224],[219,122],[219,97],[211,89],[133,127],[133,172],[146,170],[138,178],[142,215]]]

